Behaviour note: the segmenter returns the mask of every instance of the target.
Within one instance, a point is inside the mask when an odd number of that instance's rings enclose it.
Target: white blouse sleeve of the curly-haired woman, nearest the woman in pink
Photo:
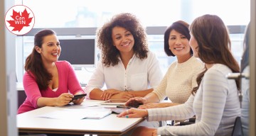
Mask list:
[[[87,86],[85,87],[86,98],[90,98],[90,92],[93,89],[101,89],[104,86],[104,70],[102,62],[98,62],[95,72],[93,72]]]

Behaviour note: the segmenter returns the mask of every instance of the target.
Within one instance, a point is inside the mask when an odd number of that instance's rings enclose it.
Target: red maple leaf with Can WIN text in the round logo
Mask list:
[[[18,30],[19,32],[24,26],[29,26],[29,23],[31,23],[33,17],[29,18],[29,13],[28,11],[26,11],[25,8],[24,11],[21,13],[16,12],[13,9],[13,15],[11,16],[11,18],[13,18],[14,21],[7,21],[8,23],[10,23],[10,27],[14,27],[14,29],[11,31]]]

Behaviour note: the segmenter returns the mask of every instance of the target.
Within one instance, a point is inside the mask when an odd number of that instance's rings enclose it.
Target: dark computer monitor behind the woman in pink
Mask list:
[[[66,60],[75,69],[95,67],[95,39],[73,38],[59,39],[61,53],[58,60]]]

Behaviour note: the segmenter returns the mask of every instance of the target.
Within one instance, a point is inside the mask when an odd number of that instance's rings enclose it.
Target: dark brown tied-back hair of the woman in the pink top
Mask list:
[[[49,85],[49,81],[53,78],[46,68],[43,66],[41,55],[36,51],[35,47],[42,47],[43,38],[47,35],[56,35],[53,30],[41,30],[36,33],[34,38],[33,51],[26,58],[25,70],[28,74],[36,80],[40,90],[46,90]],[[33,76],[31,75],[33,74]]]

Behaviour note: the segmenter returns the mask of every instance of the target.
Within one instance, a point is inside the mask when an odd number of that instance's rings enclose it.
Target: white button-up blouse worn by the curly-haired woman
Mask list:
[[[158,86],[163,77],[159,61],[153,52],[148,52],[147,55],[148,57],[143,60],[134,55],[129,60],[127,69],[124,68],[121,60],[114,67],[105,67],[99,62],[85,87],[87,98],[90,98],[92,89],[102,89],[104,84],[107,89],[121,91],[142,91]]]

